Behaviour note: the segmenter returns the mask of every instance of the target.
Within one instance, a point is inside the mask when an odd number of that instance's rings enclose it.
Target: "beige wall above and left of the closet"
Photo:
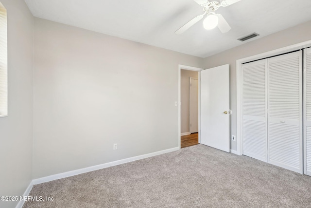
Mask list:
[[[224,51],[211,57],[206,57],[204,59],[205,69],[224,65],[227,63],[230,64],[230,108],[232,110],[231,134],[236,135],[237,133],[236,60],[311,40],[310,34],[311,21],[308,21],[304,24],[300,24],[275,34],[250,41],[241,46]],[[231,149],[237,150],[236,142],[231,142]]]

